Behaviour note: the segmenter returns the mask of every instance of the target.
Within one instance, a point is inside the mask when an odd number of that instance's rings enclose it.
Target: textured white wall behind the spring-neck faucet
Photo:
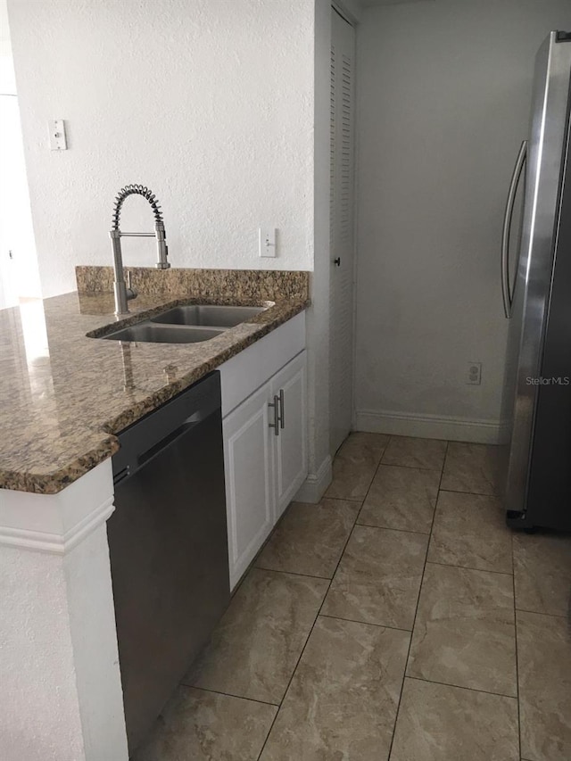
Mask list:
[[[153,189],[177,267],[312,269],[311,0],[9,0],[45,295],[111,261],[120,186]],[[47,120],[69,147],[47,147]],[[152,230],[142,199],[124,229]],[[278,228],[277,259],[258,227]],[[128,264],[155,260],[126,240]]]

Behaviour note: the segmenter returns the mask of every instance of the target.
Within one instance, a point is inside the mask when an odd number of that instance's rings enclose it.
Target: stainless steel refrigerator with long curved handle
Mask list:
[[[553,31],[535,61],[529,134],[509,187],[501,255],[509,318],[501,482],[508,524],[521,528],[571,529],[570,85],[571,32]]]

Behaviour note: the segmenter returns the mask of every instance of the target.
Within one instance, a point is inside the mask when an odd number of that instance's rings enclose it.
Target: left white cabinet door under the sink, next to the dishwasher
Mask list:
[[[234,588],[274,525],[269,384],[222,423],[226,472],[230,587]],[[270,419],[271,417],[271,419]]]

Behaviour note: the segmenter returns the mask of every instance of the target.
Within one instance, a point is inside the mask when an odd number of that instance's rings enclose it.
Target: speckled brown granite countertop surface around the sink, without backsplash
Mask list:
[[[269,308],[203,343],[125,343],[86,335],[110,323],[137,322],[149,310],[201,302]],[[0,488],[60,492],[119,449],[114,434],[308,303],[303,294],[275,296],[273,302],[252,292],[210,299],[188,292],[141,294],[129,302],[127,320],[117,321],[112,294],[72,293],[0,310]]]

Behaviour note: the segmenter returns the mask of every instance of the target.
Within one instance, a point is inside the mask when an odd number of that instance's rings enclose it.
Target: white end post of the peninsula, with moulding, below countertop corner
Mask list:
[[[57,494],[0,490],[3,761],[128,759],[112,510],[111,459]]]

